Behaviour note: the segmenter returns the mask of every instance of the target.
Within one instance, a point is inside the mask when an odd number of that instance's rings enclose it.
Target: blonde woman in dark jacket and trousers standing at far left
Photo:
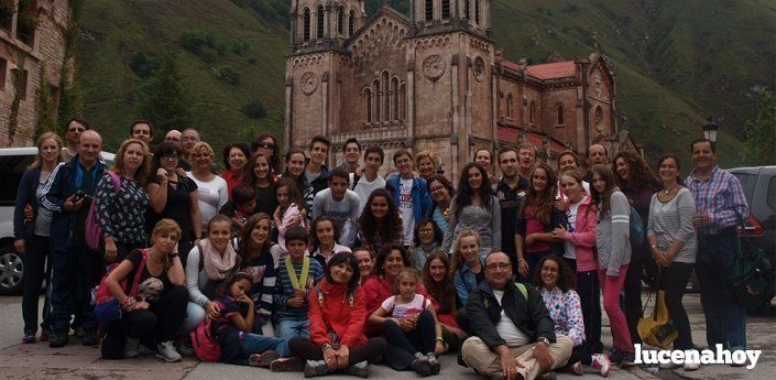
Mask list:
[[[26,253],[25,270],[22,278],[22,316],[24,318],[24,337],[22,343],[35,343],[37,333],[37,296],[41,294],[43,276],[51,271],[51,220],[52,211],[39,207],[45,195],[44,184],[48,182],[54,167],[62,162],[62,139],[46,132],[37,139],[37,155],[28,167],[19,183],[17,204],[13,213],[13,247],[19,253]],[[47,262],[47,265],[46,265]],[[46,280],[48,283],[50,281]],[[43,303],[43,323],[41,341],[48,340],[48,296]]]

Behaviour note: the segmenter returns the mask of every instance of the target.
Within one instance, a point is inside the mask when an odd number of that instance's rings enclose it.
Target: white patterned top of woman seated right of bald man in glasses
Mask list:
[[[584,322],[579,294],[572,290],[564,292],[559,287],[548,291],[544,286],[539,286],[539,293],[555,322],[555,334],[566,335],[575,347],[580,346],[584,341]]]

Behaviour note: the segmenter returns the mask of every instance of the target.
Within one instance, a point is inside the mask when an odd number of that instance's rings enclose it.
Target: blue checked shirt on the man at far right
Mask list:
[[[750,214],[739,178],[717,165],[706,181],[696,178],[696,170],[692,170],[685,185],[696,198],[696,208],[709,213],[711,218],[708,226],[698,228],[702,235],[715,235],[739,225],[735,210],[742,218]]]

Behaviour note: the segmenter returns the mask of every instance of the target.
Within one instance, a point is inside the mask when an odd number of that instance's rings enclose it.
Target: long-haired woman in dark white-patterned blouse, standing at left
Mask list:
[[[151,152],[141,140],[128,139],[116,153],[95,191],[95,211],[102,230],[105,259],[120,262],[133,249],[145,246],[145,184],[151,172]],[[96,279],[95,281],[99,281]]]

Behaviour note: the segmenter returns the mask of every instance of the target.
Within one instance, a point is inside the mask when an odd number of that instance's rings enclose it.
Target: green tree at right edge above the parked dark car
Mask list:
[[[763,91],[757,100],[757,116],[744,127],[743,159],[747,165],[773,165],[776,162],[776,95]]]

